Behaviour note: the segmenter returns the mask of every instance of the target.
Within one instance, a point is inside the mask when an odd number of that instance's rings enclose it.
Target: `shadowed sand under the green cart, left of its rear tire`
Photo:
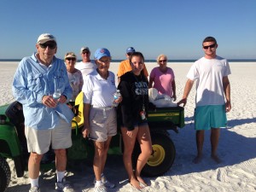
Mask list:
[[[93,191],[94,189],[94,172],[92,168],[92,163],[87,160],[77,160],[69,162],[67,167],[67,181],[72,183],[73,188],[76,192],[85,192],[85,191]],[[108,179],[115,183],[114,189],[108,189],[108,192],[119,191],[119,189],[123,188],[127,182],[119,183],[121,181],[125,181],[127,178],[125,167],[123,166],[123,160],[121,155],[108,155],[107,164],[105,167],[105,175]],[[23,177],[26,183],[29,183],[29,178],[26,175]],[[55,171],[50,170],[48,172],[41,172],[39,177],[39,185],[41,191],[47,192],[55,192]],[[19,184],[15,186],[9,187],[6,192],[27,192],[30,189],[30,184]]]

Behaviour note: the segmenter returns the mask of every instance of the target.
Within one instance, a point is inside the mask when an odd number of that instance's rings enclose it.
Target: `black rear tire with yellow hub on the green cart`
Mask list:
[[[166,131],[151,132],[151,140],[154,153],[150,155],[148,162],[143,167],[142,174],[146,177],[157,177],[163,175],[172,167],[176,149]],[[141,150],[137,145],[133,153],[133,165],[136,165],[140,153]]]

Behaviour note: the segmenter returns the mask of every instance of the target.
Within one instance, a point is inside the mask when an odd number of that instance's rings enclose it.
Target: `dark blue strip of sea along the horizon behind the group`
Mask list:
[[[0,59],[0,61],[20,61],[21,59]],[[197,60],[197,59],[196,59]],[[195,62],[196,60],[168,60],[168,62]],[[78,60],[82,61],[82,60]],[[123,60],[112,60],[112,62],[120,62]],[[256,62],[256,59],[228,59],[229,62]],[[145,60],[145,62],[156,62],[156,60]]]

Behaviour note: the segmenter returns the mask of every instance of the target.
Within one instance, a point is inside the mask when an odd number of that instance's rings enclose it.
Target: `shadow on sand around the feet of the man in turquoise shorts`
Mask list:
[[[231,119],[228,125],[229,127],[235,128],[238,125],[250,123],[256,123],[256,118]],[[194,164],[192,162],[196,154],[194,124],[190,125],[190,122],[188,122],[188,124],[179,131],[179,134],[175,134],[172,131],[170,134],[176,147],[177,156],[171,170],[165,174],[168,176],[183,175],[191,172],[204,172],[219,167],[233,166],[256,157],[256,138],[244,137],[230,128],[222,129],[220,133],[218,155],[223,162],[216,164],[210,157],[210,131],[206,131],[203,148],[204,158],[200,164]]]

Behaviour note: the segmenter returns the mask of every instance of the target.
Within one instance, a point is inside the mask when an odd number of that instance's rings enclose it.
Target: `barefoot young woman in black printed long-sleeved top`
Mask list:
[[[118,86],[123,97],[119,115],[125,145],[123,160],[130,183],[137,189],[147,186],[140,175],[152,151],[147,121],[148,79],[143,75],[143,63],[143,54],[140,52],[133,53],[130,57],[132,70],[121,76]],[[137,167],[133,172],[131,154],[136,140],[140,144],[142,153],[138,156]]]

